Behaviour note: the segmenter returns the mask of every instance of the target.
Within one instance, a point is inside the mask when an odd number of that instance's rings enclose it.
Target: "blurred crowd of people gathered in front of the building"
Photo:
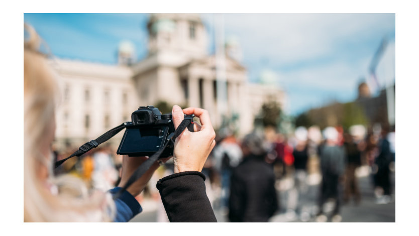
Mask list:
[[[394,200],[390,173],[395,171],[395,132],[386,127],[298,127],[291,134],[267,127],[241,139],[222,129],[216,139],[202,173],[208,198],[225,221],[268,222],[284,214],[300,221],[340,222],[343,204],[362,201],[358,178],[363,170],[370,176],[376,204]],[[56,153],[56,158],[74,151]],[[122,157],[103,145],[55,171],[70,172],[88,186],[107,191],[118,184],[121,166]],[[169,160],[136,197],[140,203],[156,202],[157,222],[168,219],[155,186],[172,170]],[[315,201],[307,197],[309,186],[318,187]],[[307,208],[307,199],[313,208]]]

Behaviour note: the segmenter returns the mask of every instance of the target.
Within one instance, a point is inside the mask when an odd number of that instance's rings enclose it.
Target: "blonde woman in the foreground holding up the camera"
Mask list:
[[[55,176],[51,144],[55,133],[55,108],[59,99],[58,79],[39,48],[42,39],[35,30],[24,25],[24,221],[129,221],[141,212],[135,200],[151,175],[149,170],[112,199],[120,190],[107,192],[87,189],[84,182],[71,175]],[[170,221],[217,221],[205,194],[203,164],[215,146],[215,132],[206,110],[189,107],[172,109],[175,128],[183,115],[195,114],[200,124],[194,133],[185,130],[174,144],[174,174],[160,179],[157,188]],[[119,186],[147,157],[124,156]],[[166,159],[167,160],[167,159]]]

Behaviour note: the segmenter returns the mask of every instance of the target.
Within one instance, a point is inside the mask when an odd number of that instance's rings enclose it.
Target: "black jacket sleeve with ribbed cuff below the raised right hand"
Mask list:
[[[204,180],[201,172],[185,171],[157,182],[170,222],[217,222],[206,196]]]

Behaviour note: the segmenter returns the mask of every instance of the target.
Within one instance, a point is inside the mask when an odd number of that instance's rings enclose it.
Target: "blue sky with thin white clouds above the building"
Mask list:
[[[202,14],[208,53],[214,52],[214,15]],[[147,54],[148,14],[24,14],[60,58],[116,63],[123,40]],[[356,98],[360,78],[383,37],[390,41],[378,65],[381,85],[394,81],[394,14],[225,14],[226,38],[236,38],[250,82],[262,74],[286,90],[286,111],[298,114],[331,99]]]

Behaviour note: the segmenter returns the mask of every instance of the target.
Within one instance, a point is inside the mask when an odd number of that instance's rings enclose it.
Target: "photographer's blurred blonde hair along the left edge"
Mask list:
[[[24,41],[24,221],[111,221],[115,203],[109,193],[89,193],[82,180],[52,174],[53,157],[42,153],[41,144],[52,135],[59,93],[56,76],[39,52],[43,43],[25,24]],[[49,170],[40,177],[40,167]]]

